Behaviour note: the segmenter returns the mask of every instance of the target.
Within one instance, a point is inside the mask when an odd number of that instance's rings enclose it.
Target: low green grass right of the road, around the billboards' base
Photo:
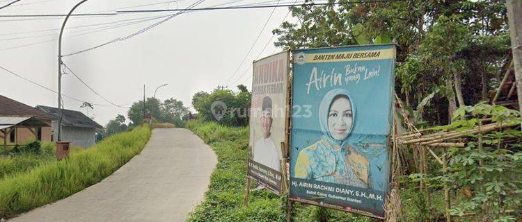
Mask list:
[[[248,156],[248,127],[232,128],[214,122],[189,121],[186,128],[201,137],[218,157],[210,177],[209,190],[187,221],[285,221],[282,200],[267,191],[251,191],[248,206],[243,207]],[[251,189],[257,187],[253,182]],[[294,205],[293,221],[368,222],[377,221],[363,216],[324,210],[310,205]]]

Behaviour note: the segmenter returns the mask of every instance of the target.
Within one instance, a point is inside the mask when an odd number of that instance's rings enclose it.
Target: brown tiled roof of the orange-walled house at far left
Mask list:
[[[25,105],[19,101],[9,99],[0,95],[0,116],[8,117],[35,117],[40,120],[57,120],[56,117],[49,115],[42,110]]]

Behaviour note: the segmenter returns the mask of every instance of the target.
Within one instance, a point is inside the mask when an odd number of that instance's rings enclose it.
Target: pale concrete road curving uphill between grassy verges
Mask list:
[[[215,165],[214,152],[191,131],[155,129],[141,154],[102,182],[9,222],[184,221]]]

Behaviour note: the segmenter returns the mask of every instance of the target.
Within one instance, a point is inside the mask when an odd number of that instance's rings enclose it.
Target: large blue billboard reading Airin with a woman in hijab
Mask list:
[[[395,46],[296,50],[290,198],[383,218]]]

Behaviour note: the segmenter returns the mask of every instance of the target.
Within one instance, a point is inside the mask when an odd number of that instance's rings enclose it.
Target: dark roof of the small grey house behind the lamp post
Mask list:
[[[78,112],[75,110],[63,110],[63,115],[61,115],[62,110],[58,110],[58,108],[49,107],[45,105],[37,105],[36,108],[44,112],[47,112],[48,114],[52,114],[54,117],[62,117],[62,126],[98,129],[103,128],[103,126],[100,126],[100,124],[93,121],[93,119],[87,117],[83,112]]]

